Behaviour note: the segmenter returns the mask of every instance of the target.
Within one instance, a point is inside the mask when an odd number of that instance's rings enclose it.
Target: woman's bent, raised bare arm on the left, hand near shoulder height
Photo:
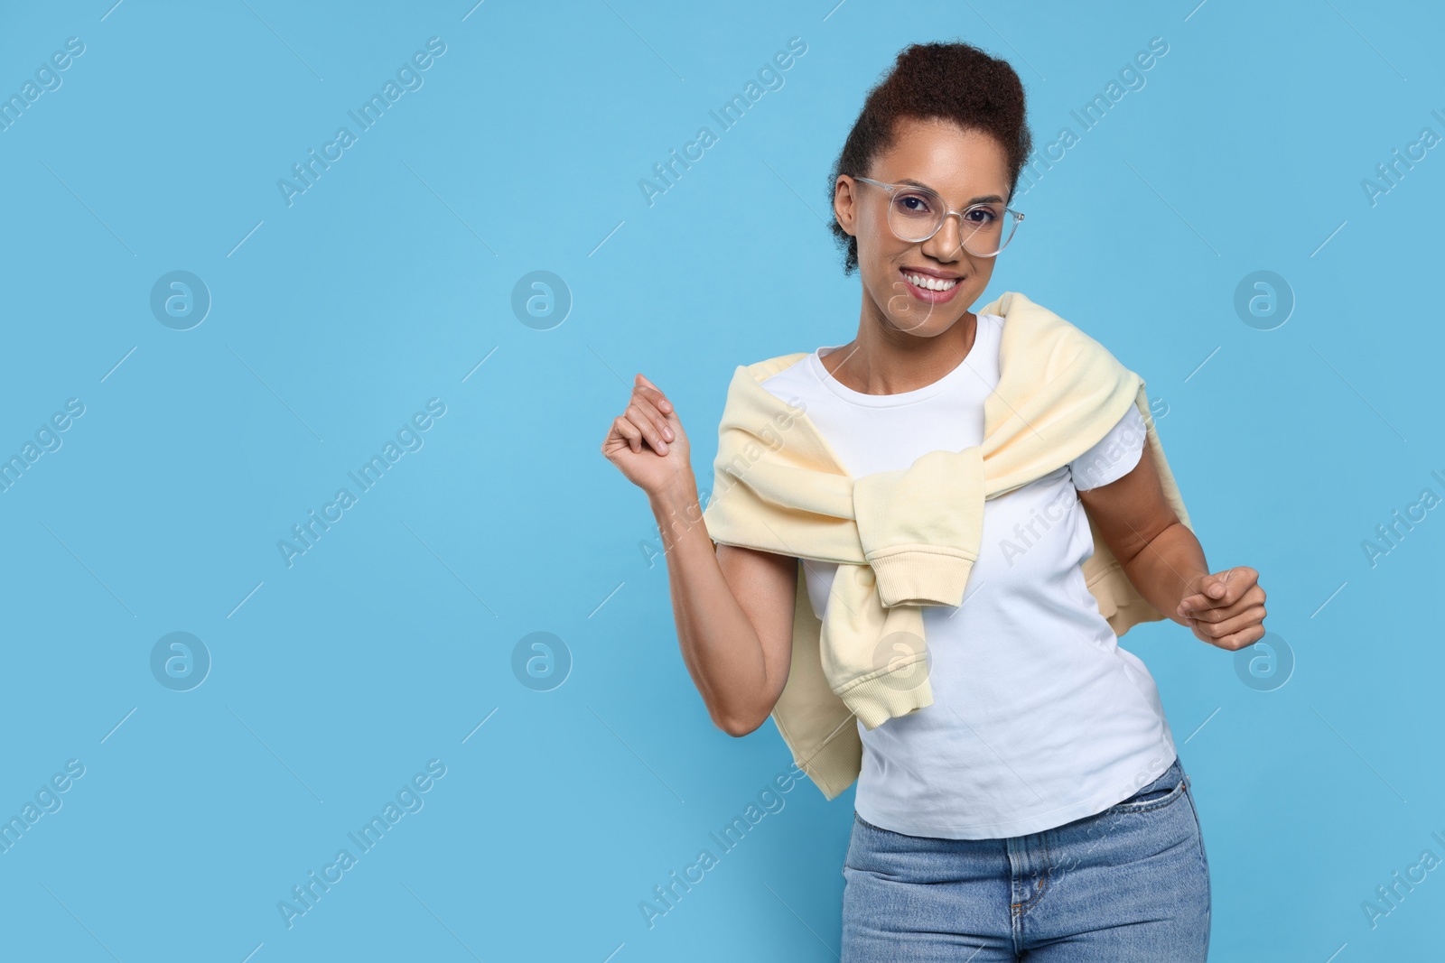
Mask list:
[[[682,422],[640,374],[603,455],[647,492],[668,559],[678,644],[708,715],[730,735],[753,732],[788,683],[798,559],[714,546]]]

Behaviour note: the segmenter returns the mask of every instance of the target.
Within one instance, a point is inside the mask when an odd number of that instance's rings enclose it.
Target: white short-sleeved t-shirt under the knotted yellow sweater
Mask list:
[[[932,450],[983,442],[984,398],[998,384],[1004,319],[978,316],[968,357],[900,394],[844,387],[819,348],[763,381],[802,404],[853,476],[906,469]],[[1092,816],[1169,768],[1173,736],[1143,661],[1084,583],[1094,553],[1077,491],[1116,481],[1146,443],[1136,407],[1078,459],[984,501],[983,541],[962,605],[923,606],[933,705],[858,723],[854,809],[909,836],[1000,839]],[[803,560],[822,618],[835,563]]]

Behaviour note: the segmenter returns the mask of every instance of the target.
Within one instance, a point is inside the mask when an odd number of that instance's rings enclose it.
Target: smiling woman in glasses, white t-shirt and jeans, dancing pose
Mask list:
[[[845,474],[844,484],[854,488],[840,489],[841,501],[857,495],[857,511],[844,504],[837,514],[857,526],[845,527],[853,543],[864,534],[867,514],[860,479],[893,484],[935,456],[965,465],[970,452],[987,471],[1001,445],[990,432],[1000,432],[1007,419],[1000,380],[1017,385],[1030,374],[1042,378],[1020,370],[1020,360],[1032,358],[1030,345],[1020,341],[1033,336],[1023,326],[1027,319],[1042,312],[1053,319],[1051,331],[1075,331],[1012,293],[994,302],[998,313],[968,310],[1022,219],[1006,205],[1029,150],[1023,87],[1006,62],[964,43],[905,49],[868,94],[832,178],[832,230],[844,270],[858,270],[863,282],[857,336],[738,368],[736,384],[760,384],[769,394],[756,397],[786,400],[799,413],[801,433],[783,439],[779,458],[822,439],[815,452],[832,459],[812,475],[785,466],[770,484],[799,478],[832,485]],[[1003,364],[1006,357],[1012,365]],[[857,719],[863,752],[842,871],[845,963],[1178,963],[1207,956],[1209,871],[1188,778],[1153,679],[1117,645],[1094,595],[1095,579],[1085,586],[1082,566],[1095,554],[1117,559],[1120,580],[1150,606],[1152,615],[1136,614],[1120,622],[1123,629],[1170,614],[1196,638],[1227,651],[1263,637],[1264,591],[1250,567],[1209,572],[1186,518],[1175,511],[1182,502],[1140,410],[1147,406],[1142,380],[1111,357],[1100,364],[1105,367],[1097,370],[1118,377],[1121,387],[1110,394],[1107,423],[1098,420],[1104,409],[1077,422],[1091,426],[1087,450],[1075,432],[1064,442],[1074,445],[1066,461],[1058,448],[1040,449],[1052,450],[1055,461],[1043,463],[1056,468],[1007,491],[990,489],[987,501],[978,495],[981,536],[971,566],[957,560],[971,552],[920,553],[939,566],[958,566],[952,575],[961,576],[933,579],[948,586],[932,592],[939,598],[906,599],[922,601],[916,609],[893,599],[871,614],[876,637],[881,619],[919,612],[926,653],[922,645],[902,650],[922,670],[926,689],[918,674],[897,681],[909,673],[880,661],[870,681],[884,679],[887,686],[848,702],[854,710],[883,709]],[[1069,371],[1078,375],[1079,368]],[[1139,404],[1129,403],[1133,385]],[[1032,390],[1042,394],[1048,385]],[[1088,384],[1055,390],[1056,404],[1075,407],[1091,394]],[[1120,397],[1129,403],[1121,417]],[[724,435],[727,424],[725,414]],[[1040,435],[1033,424],[1016,427],[1019,443]],[[837,638],[867,619],[838,606],[874,603],[873,592],[881,595],[886,579],[894,589],[900,585],[897,570],[887,572],[886,553],[879,552],[855,559],[809,543],[789,554],[783,549],[802,527],[785,537],[763,524],[759,531],[773,537],[728,543],[728,533],[740,528],[712,514],[717,492],[707,524],[699,524],[682,423],[642,374],[603,452],[652,502],[678,640],[711,718],[741,736],[775,715],[789,738],[776,712],[789,673],[796,676],[803,664],[793,648],[798,627],[822,625],[824,644],[841,645]],[[722,459],[720,448],[720,466]],[[741,479],[747,469],[733,474]],[[762,485],[764,475],[757,468],[747,481]],[[772,491],[775,501],[786,501],[786,492]],[[809,517],[828,514],[816,508],[828,501],[824,494],[801,495],[812,505]],[[929,504],[896,510],[945,518],[933,502],[948,498],[915,498]],[[877,511],[889,508],[880,502]],[[798,517],[779,514],[775,521]],[[840,565],[850,563],[840,573]],[[909,562],[910,576],[928,582],[932,576],[919,565]],[[964,579],[967,596],[941,603]],[[857,589],[853,580],[876,588]],[[812,611],[795,619],[799,605]],[[879,651],[887,658],[900,648],[897,638],[909,635],[887,634]],[[909,692],[900,694],[905,686]],[[798,755],[796,742],[789,745]],[[829,798],[841,791],[808,764],[799,758]],[[847,762],[837,765],[847,781]]]

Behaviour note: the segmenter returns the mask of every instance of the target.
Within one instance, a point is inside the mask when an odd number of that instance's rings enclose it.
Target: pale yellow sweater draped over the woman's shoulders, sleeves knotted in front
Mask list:
[[[978,313],[1004,318],[984,440],[929,452],[905,471],[851,478],[806,413],[762,385],[805,352],[738,365],[728,385],[712,497],[702,513],[709,537],[840,565],[827,621],[814,614],[798,566],[792,666],[772,713],[795,762],[829,800],[861,768],[854,719],[873,729],[933,703],[922,606],[962,602],[985,498],[1074,461],[1133,404],[1165,495],[1189,526],[1144,380],[1017,292]],[[1094,554],[1081,567],[1114,632],[1165,618],[1134,589],[1092,518],[1090,530]]]

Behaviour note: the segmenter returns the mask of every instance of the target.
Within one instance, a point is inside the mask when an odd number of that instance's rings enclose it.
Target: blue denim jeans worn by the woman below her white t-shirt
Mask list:
[[[1094,816],[1009,839],[931,839],[854,813],[842,963],[1194,963],[1209,860],[1176,758]]]

